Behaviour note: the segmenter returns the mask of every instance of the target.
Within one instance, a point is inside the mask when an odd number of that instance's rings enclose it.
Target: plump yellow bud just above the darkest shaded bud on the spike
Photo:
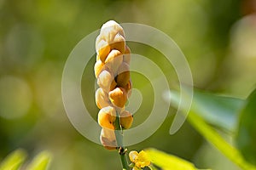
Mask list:
[[[113,71],[113,75],[117,75],[119,66],[123,62],[123,54],[119,50],[113,49],[110,54],[108,54],[107,59],[105,60],[105,65]]]

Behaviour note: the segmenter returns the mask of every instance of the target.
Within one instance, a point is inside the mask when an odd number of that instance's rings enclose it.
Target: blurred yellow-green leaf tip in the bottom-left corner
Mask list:
[[[0,170],[17,170],[26,159],[25,150],[15,150],[10,153],[0,164]]]

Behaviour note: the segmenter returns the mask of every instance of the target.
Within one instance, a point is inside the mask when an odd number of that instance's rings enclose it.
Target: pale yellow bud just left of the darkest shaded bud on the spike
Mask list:
[[[111,90],[113,90],[113,73],[108,71],[108,70],[103,70],[97,79],[97,84],[99,85],[99,87],[101,87],[105,92],[109,92]]]

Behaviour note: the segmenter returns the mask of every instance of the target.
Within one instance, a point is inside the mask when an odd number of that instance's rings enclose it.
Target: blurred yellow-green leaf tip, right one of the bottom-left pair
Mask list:
[[[43,151],[36,156],[28,165],[27,170],[45,170],[48,169],[51,154],[48,151]]]

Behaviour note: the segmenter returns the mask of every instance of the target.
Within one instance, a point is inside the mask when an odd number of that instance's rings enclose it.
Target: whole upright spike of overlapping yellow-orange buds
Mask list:
[[[133,117],[125,111],[125,103],[131,95],[130,80],[131,50],[125,44],[125,32],[118,23],[109,20],[96,37],[97,84],[96,105],[101,111],[98,123],[102,127],[101,142],[108,150],[117,147],[114,122],[120,117],[120,127],[129,128]],[[117,115],[117,111],[119,115]]]

